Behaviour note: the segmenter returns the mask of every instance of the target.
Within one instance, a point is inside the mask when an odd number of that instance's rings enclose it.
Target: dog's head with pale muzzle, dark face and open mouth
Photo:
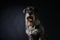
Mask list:
[[[35,19],[36,19],[36,11],[34,7],[26,7],[23,10],[23,13],[25,14],[25,22],[28,26],[33,26]]]

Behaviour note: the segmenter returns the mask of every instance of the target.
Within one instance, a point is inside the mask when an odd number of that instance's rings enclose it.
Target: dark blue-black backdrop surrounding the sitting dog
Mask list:
[[[28,40],[25,34],[24,14],[22,13],[22,10],[28,5],[33,5],[39,10],[38,15],[48,40],[58,40],[59,29],[56,27],[58,23],[55,12],[57,10],[54,10],[53,2],[48,3],[48,0],[0,1],[0,39]]]

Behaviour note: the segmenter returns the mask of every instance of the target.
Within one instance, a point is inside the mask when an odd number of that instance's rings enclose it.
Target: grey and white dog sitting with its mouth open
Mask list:
[[[40,25],[36,8],[28,6],[23,10],[23,13],[25,14],[25,28],[29,40],[45,40],[44,27]]]

